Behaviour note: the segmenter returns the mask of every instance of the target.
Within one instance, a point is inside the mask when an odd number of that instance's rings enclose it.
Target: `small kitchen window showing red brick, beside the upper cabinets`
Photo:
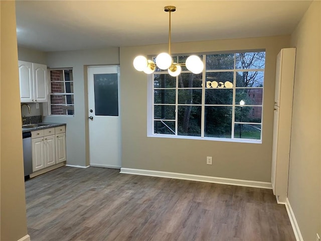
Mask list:
[[[49,109],[52,115],[74,115],[72,69],[50,70]]]

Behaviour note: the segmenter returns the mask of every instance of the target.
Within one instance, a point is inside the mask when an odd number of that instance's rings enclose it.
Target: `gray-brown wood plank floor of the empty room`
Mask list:
[[[26,181],[32,241],[295,240],[272,190],[61,167]]]

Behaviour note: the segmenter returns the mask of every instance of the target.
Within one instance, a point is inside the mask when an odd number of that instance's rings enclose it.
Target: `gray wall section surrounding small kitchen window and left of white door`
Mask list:
[[[119,64],[119,48],[48,52],[49,68],[73,68],[74,116],[44,116],[44,122],[66,123],[67,164],[89,165],[87,65]]]

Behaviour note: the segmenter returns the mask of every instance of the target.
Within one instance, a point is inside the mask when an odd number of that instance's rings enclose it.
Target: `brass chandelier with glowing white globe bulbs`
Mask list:
[[[134,61],[134,68],[138,71],[143,71],[146,74],[151,74],[155,71],[156,66],[159,69],[168,70],[169,74],[172,76],[178,76],[181,71],[181,66],[186,66],[188,70],[190,70],[194,74],[199,74],[203,71],[204,64],[200,57],[196,55],[191,55],[186,59],[185,64],[183,63],[175,63],[171,56],[171,13],[176,11],[176,7],[174,6],[166,6],[164,7],[164,11],[168,12],[170,15],[169,20],[169,52],[168,53],[160,53],[157,55],[155,62],[151,60],[147,60],[145,56],[139,55]]]

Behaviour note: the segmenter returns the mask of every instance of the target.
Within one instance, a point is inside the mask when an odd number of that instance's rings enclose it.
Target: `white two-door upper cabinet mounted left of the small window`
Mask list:
[[[18,63],[21,102],[47,102],[47,66],[26,61]]]

